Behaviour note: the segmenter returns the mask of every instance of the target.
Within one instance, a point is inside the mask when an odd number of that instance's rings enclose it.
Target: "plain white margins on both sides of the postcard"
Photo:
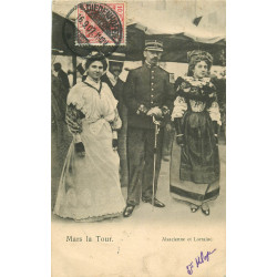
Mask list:
[[[11,6],[1,30],[1,275],[43,277],[51,275],[51,3]],[[227,1],[230,277],[276,271],[275,13],[274,1]]]

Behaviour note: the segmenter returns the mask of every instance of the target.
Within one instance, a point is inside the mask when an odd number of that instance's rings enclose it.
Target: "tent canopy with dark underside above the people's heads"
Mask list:
[[[150,9],[148,4],[147,7],[141,4],[138,8],[133,7],[127,11],[126,47],[114,48],[74,45],[76,30],[73,19],[53,12],[53,54],[84,57],[93,50],[100,50],[105,54],[117,51],[124,52],[129,61],[138,61],[143,59],[145,39],[158,39],[164,42],[162,61],[187,62],[187,52],[201,49],[213,54],[214,64],[220,64],[226,44],[225,25],[218,28],[216,13],[211,13],[213,17],[211,14],[203,17],[203,21],[196,27],[193,24],[191,6],[186,9],[170,6],[164,10]]]

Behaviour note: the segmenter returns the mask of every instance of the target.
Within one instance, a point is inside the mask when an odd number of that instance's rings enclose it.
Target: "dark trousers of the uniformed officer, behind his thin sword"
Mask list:
[[[162,162],[164,129],[157,134],[154,195]],[[138,205],[141,196],[152,198],[155,130],[127,127],[127,204]]]

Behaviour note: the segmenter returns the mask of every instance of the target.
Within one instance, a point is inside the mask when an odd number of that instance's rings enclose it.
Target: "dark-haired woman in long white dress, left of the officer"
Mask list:
[[[100,53],[85,62],[88,78],[68,95],[66,123],[73,135],[64,162],[54,214],[79,222],[116,217],[125,206],[120,185],[117,101],[100,78],[107,68]]]

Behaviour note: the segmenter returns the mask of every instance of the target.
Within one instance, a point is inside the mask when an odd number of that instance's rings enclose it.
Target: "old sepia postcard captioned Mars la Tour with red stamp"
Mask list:
[[[53,277],[226,276],[226,2],[52,2]]]

